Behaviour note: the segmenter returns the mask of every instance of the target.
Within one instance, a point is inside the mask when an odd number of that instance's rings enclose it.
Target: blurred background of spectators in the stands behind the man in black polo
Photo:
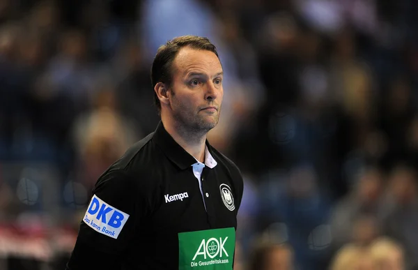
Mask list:
[[[153,132],[159,45],[224,66],[235,269],[418,269],[418,1],[1,0],[0,269],[64,269],[91,188]]]

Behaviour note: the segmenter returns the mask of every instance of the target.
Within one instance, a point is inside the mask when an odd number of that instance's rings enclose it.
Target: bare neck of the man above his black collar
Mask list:
[[[196,160],[205,163],[205,142],[206,132],[201,130],[192,130],[178,123],[161,117],[165,130],[173,137],[180,147],[183,147],[187,153],[192,155]]]

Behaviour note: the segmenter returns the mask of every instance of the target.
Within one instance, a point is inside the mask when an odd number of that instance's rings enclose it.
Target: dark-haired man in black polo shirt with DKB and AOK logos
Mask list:
[[[206,140],[222,79],[207,38],[159,48],[151,80],[161,122],[98,179],[68,270],[233,268],[242,176]]]

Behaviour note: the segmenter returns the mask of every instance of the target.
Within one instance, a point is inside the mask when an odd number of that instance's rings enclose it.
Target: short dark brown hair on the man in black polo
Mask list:
[[[151,83],[153,84],[153,88],[158,82],[162,82],[167,84],[168,87],[171,87],[173,79],[173,61],[183,47],[191,47],[196,50],[207,50],[216,54],[219,59],[215,45],[213,45],[208,38],[201,36],[179,36],[173,38],[172,40],[167,41],[166,44],[161,45],[157,50],[153,66],[151,67]],[[157,106],[158,112],[160,112],[161,103],[155,92],[154,103],[155,106]]]

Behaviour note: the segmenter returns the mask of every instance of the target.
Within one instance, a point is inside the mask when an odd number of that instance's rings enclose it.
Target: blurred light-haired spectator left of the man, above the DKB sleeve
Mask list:
[[[100,174],[139,137],[130,121],[116,110],[114,92],[103,89],[95,98],[95,110],[75,121],[75,145],[81,161],[80,179],[90,190]]]

